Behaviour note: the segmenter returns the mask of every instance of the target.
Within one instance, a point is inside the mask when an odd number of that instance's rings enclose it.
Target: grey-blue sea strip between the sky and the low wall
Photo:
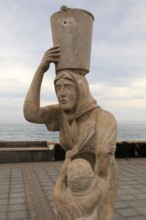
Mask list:
[[[59,132],[33,123],[0,123],[0,141],[56,141]],[[146,124],[118,124],[118,141],[146,141]]]

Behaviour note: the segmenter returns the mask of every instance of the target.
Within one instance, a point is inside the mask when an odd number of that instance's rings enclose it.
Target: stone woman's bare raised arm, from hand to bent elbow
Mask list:
[[[57,63],[60,57],[59,46],[47,50],[33,77],[24,102],[24,117],[34,123],[46,123],[49,108],[40,107],[40,90],[44,73],[49,69],[50,63]]]

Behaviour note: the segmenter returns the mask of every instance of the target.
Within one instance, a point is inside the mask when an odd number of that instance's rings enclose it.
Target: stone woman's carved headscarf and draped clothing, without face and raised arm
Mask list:
[[[61,76],[56,77],[55,81]],[[74,80],[78,88],[77,109],[72,119],[55,105],[48,107],[48,130],[60,131],[60,144],[65,151],[76,147],[76,158],[87,159],[94,169],[98,161],[98,178],[104,183],[103,196],[97,206],[98,220],[111,220],[117,193],[118,169],[115,162],[117,124],[113,115],[100,108],[89,91],[84,76],[68,71],[67,78]],[[90,202],[90,201],[89,201]],[[65,219],[64,219],[65,220]]]

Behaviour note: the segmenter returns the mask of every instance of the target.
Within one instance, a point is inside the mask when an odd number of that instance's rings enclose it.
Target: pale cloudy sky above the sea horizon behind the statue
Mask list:
[[[118,123],[146,123],[145,0],[0,0],[0,123],[23,123],[23,103],[44,52],[50,16],[62,5],[94,15],[90,90]],[[45,74],[41,106],[57,103],[55,68]]]

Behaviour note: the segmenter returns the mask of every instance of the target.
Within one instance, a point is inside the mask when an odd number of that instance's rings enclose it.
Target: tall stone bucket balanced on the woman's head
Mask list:
[[[51,16],[53,45],[61,48],[56,71],[72,69],[82,75],[89,72],[93,20],[90,12],[66,6]]]

